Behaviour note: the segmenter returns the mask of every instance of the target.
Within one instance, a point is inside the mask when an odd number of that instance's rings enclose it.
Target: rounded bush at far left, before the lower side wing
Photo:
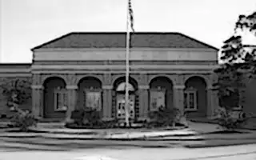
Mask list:
[[[19,127],[21,131],[27,132],[30,126],[36,126],[38,119],[29,110],[17,112],[10,118],[11,126]]]

